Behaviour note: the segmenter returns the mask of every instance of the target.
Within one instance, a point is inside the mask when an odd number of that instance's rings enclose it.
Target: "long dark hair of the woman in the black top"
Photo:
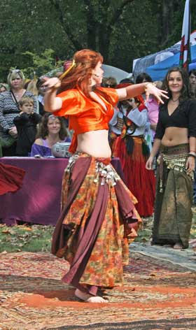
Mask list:
[[[168,92],[167,96],[169,96],[169,99],[172,98],[172,92],[169,89],[169,76],[172,72],[181,73],[181,77],[183,80],[183,88],[181,89],[181,96],[179,97],[179,103],[181,103],[190,97],[188,73],[185,71],[185,69],[179,67],[169,69],[167,75],[165,76],[165,79],[162,82],[162,89]],[[168,103],[169,99],[165,101],[165,103]]]

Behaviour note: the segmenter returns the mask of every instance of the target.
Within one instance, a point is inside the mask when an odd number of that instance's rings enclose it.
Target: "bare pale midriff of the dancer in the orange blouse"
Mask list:
[[[109,158],[111,148],[109,146],[109,131],[101,129],[78,134],[78,152],[85,152],[92,157]]]

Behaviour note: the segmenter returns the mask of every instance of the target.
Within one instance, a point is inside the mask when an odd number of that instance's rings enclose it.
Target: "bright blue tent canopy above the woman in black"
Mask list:
[[[195,69],[196,67],[196,45],[191,46],[191,64],[189,65],[189,71],[192,69]],[[163,80],[166,76],[167,71],[174,67],[174,66],[179,66],[179,57],[180,57],[180,52],[177,54],[168,57],[162,62],[159,62],[158,64],[148,66],[146,68],[146,73],[151,76],[153,81],[155,80]]]

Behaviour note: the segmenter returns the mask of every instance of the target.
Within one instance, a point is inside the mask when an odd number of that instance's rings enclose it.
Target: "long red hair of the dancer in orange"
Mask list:
[[[97,66],[98,62],[103,63],[103,57],[99,52],[90,49],[83,49],[76,52],[73,55],[73,59],[76,64],[62,79],[62,84],[58,92],[64,92],[67,89],[73,89],[78,86],[85,96],[90,97],[90,80],[92,78],[92,71],[95,66]],[[107,99],[104,91],[100,91],[96,86],[93,90]]]

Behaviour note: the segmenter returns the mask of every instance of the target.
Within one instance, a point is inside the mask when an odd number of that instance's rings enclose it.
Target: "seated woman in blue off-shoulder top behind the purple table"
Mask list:
[[[36,141],[31,148],[31,157],[52,156],[51,148],[57,142],[71,142],[62,117],[56,117],[51,113],[45,113],[42,117]]]

